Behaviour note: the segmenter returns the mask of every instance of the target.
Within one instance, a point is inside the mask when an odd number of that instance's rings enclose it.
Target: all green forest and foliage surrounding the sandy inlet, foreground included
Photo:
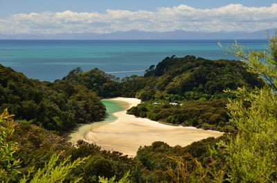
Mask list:
[[[265,52],[229,52],[242,61],[167,57],[122,80],[76,68],[42,82],[0,66],[0,182],[277,182],[277,34]],[[142,99],[139,117],[231,133],[134,158],[60,136],[103,119],[100,97],[116,96]]]

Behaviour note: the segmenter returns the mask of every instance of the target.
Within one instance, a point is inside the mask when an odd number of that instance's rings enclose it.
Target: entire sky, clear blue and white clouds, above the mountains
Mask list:
[[[0,0],[1,34],[254,32],[277,28],[271,0]]]

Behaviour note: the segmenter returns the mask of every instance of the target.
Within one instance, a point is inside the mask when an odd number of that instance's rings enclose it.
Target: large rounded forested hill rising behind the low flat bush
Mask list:
[[[226,98],[226,88],[262,86],[257,75],[247,72],[243,63],[231,60],[211,61],[194,56],[166,57],[156,68],[150,66],[145,73],[152,93],[141,91],[141,99],[211,100]],[[159,93],[158,93],[159,91]]]

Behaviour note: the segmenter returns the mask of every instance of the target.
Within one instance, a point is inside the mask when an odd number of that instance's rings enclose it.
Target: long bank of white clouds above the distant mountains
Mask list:
[[[246,7],[229,4],[220,8],[196,9],[186,5],[139,10],[106,10],[99,12],[32,12],[0,19],[0,33],[108,33],[127,30],[166,32],[248,31],[277,27],[277,3],[270,7]]]

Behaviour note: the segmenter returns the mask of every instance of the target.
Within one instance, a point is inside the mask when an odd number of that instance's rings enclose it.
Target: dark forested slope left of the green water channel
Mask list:
[[[59,132],[80,123],[100,121],[105,115],[105,106],[96,93],[80,84],[28,79],[0,65],[0,110],[4,108],[15,119],[26,119]]]

